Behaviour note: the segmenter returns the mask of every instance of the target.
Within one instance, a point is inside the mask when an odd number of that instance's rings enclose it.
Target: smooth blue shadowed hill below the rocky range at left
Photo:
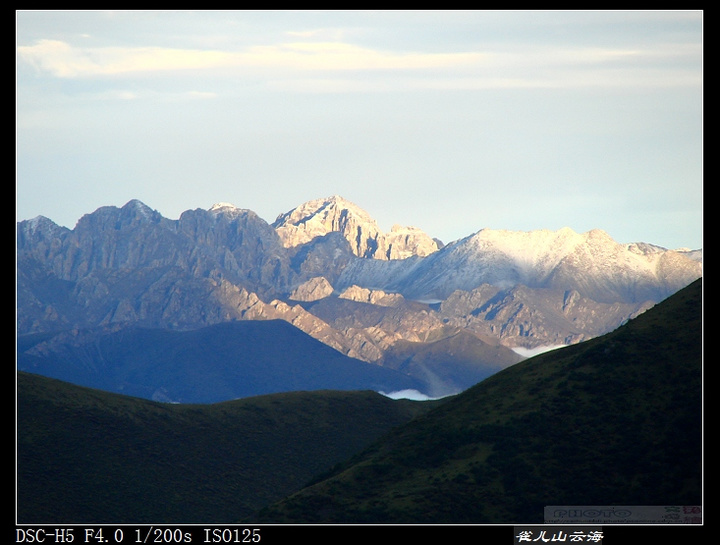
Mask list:
[[[189,331],[27,335],[18,339],[17,366],[80,386],[177,403],[298,390],[426,389],[421,380],[345,356],[283,320]]]

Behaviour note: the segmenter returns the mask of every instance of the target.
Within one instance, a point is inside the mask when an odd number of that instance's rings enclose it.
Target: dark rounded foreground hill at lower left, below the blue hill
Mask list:
[[[178,405],[17,381],[21,524],[234,522],[435,403],[317,391]]]

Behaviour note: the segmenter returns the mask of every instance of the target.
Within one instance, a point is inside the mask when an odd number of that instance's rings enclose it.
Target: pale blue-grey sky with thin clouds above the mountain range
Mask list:
[[[16,216],[139,199],[702,247],[702,11],[16,11]]]

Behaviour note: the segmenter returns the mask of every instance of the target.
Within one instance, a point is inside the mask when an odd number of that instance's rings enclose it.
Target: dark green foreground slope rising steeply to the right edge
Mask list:
[[[422,415],[266,523],[538,523],[546,506],[700,505],[701,280]]]

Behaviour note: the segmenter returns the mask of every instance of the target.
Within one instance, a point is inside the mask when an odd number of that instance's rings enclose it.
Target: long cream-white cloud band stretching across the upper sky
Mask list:
[[[325,32],[323,32],[325,34]],[[295,37],[313,37],[311,31]],[[488,48],[482,51],[393,52],[340,41],[292,41],[253,45],[241,51],[175,49],[164,47],[79,47],[60,40],[39,40],[18,47],[20,58],[36,70],[58,78],[157,75],[163,72],[270,70],[285,81],[288,71],[327,73],[345,77],[348,72],[412,73],[405,85],[429,88],[572,87],[632,85],[697,85],[697,72],[663,68],[699,55],[698,45],[653,48],[597,48],[540,46]],[[643,63],[650,62],[649,66]],[[274,72],[272,72],[274,71]],[[424,76],[418,72],[426,71]],[[307,76],[302,76],[307,80]],[[361,89],[367,89],[362,86]],[[377,89],[382,89],[378,86]]]

